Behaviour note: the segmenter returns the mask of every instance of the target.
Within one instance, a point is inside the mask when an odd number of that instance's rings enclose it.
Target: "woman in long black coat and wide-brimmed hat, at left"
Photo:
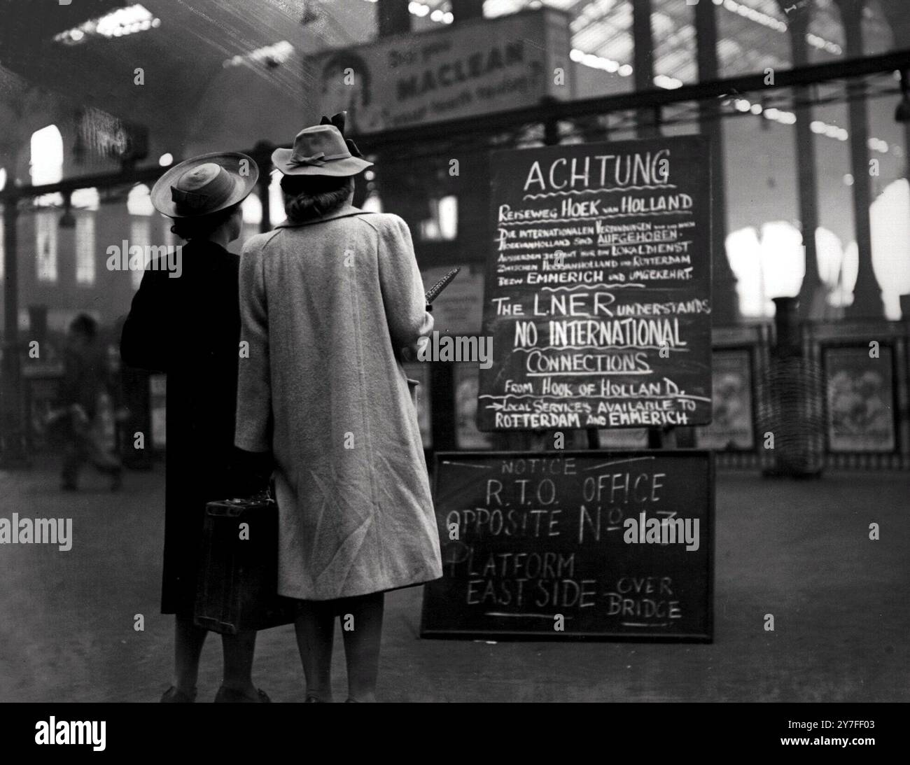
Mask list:
[[[176,678],[162,701],[196,697],[207,635],[193,623],[206,503],[247,496],[265,482],[263,472],[268,476],[268,468],[258,469],[233,446],[240,259],[225,248],[240,235],[240,203],[257,177],[248,156],[218,154],[187,160],[158,180],[152,203],[175,218],[173,230],[187,244],[177,249],[176,263],[171,259],[171,271],[147,266],[120,341],[125,364],[167,373],[161,611],[176,615]],[[268,701],[250,677],[256,633],[224,635],[222,642],[216,701]]]

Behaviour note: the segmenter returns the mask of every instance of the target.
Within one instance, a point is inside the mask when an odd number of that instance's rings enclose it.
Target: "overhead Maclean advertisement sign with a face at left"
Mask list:
[[[539,8],[327,51],[304,62],[314,114],[348,111],[354,134],[573,96],[569,18]]]

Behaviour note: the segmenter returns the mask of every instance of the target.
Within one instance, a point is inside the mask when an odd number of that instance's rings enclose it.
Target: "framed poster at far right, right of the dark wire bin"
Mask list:
[[[881,346],[823,350],[828,448],[833,452],[891,452],[896,448],[894,357]]]

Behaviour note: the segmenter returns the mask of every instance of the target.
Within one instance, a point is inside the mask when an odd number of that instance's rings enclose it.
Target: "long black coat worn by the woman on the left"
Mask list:
[[[120,354],[131,367],[167,373],[161,610],[188,614],[206,502],[249,494],[252,477],[233,446],[240,259],[211,242],[190,242],[181,256],[181,276],[147,270],[142,278]]]

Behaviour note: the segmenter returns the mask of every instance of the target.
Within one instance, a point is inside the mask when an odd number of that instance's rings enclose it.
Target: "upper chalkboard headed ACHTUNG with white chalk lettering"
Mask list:
[[[706,140],[490,157],[479,428],[711,422]]]

